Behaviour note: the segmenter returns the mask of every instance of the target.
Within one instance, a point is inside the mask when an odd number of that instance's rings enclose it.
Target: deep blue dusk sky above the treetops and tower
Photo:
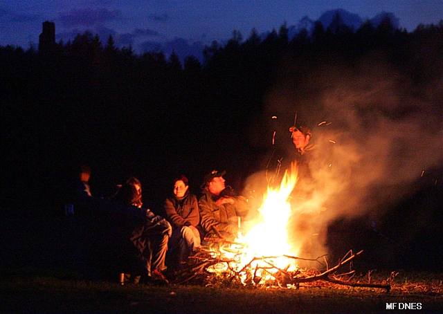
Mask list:
[[[57,40],[73,39],[77,33],[91,30],[113,35],[120,44],[131,44],[136,50],[141,43],[150,46],[178,38],[204,45],[230,38],[233,30],[247,37],[252,28],[262,33],[284,22],[291,26],[305,16],[316,20],[337,8],[362,19],[392,12],[399,26],[408,31],[419,24],[437,24],[443,18],[442,0],[3,0],[0,45],[37,47],[46,20],[55,22]]]

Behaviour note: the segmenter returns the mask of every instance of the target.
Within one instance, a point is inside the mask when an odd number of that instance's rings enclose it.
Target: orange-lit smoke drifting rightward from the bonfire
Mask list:
[[[433,66],[443,68],[442,62]],[[275,151],[290,156],[294,116],[312,129],[312,180],[296,186],[291,228],[302,254],[318,256],[326,252],[332,221],[382,216],[387,203],[413,193],[417,179],[443,165],[443,72],[417,84],[381,55],[353,65],[322,64],[309,77],[300,77],[298,64],[285,64],[282,71],[284,79],[266,98],[261,122],[269,122],[252,142],[264,146],[276,131]],[[247,189],[264,191],[257,187],[263,176],[251,177]]]

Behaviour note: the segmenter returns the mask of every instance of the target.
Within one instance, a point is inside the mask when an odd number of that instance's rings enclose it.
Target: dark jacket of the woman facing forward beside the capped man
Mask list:
[[[186,195],[181,199],[172,195],[166,198],[164,207],[166,218],[173,228],[181,228],[183,225],[193,225],[194,227],[199,225],[199,204],[194,194],[186,192]]]

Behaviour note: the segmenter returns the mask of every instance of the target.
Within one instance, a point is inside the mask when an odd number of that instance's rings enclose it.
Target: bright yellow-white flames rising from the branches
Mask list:
[[[295,165],[286,171],[279,188],[268,187],[259,208],[259,217],[253,227],[235,243],[220,249],[219,258],[224,263],[215,265],[210,271],[239,273],[242,281],[253,277],[255,283],[273,279],[278,270],[293,271],[297,265],[297,250],[289,245],[287,224],[291,216],[288,199],[297,182]]]

